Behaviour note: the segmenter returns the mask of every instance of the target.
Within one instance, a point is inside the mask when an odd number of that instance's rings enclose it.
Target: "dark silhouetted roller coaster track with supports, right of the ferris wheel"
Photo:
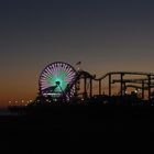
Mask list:
[[[112,75],[120,75],[121,78],[120,79],[111,79]],[[143,76],[143,78],[135,78],[135,79],[124,79],[123,76],[124,75],[139,75],[139,76]],[[64,90],[64,96],[66,98],[69,98],[70,95],[70,89],[74,88],[74,86],[76,86],[77,81],[80,79],[90,79],[90,80],[96,80],[96,81],[101,81],[103,80],[106,77],[109,77],[109,96],[111,96],[111,84],[116,84],[116,82],[121,82],[121,95],[123,94],[123,84],[145,84],[144,85],[144,90],[148,90],[148,95],[151,95],[151,88],[154,88],[154,74],[153,73],[143,73],[143,72],[110,72],[105,74],[103,76],[96,78],[95,75],[89,74],[88,72],[85,70],[79,70],[77,72],[75,78],[67,85],[66,89]],[[141,86],[136,86],[136,85],[125,85],[125,88],[128,87],[133,87],[133,88],[138,88],[138,89],[143,89],[142,85]],[[92,87],[91,91],[92,91]],[[99,89],[101,88],[101,84],[99,85]],[[85,94],[86,94],[86,89],[85,89]]]

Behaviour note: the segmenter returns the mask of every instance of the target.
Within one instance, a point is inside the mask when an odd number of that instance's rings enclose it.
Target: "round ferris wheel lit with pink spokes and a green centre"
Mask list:
[[[42,96],[53,98],[72,98],[75,95],[76,70],[73,66],[64,62],[55,62],[47,65],[38,80]]]

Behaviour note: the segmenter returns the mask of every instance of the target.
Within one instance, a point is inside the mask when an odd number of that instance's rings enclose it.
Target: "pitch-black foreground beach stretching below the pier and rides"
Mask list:
[[[1,150],[153,150],[153,107],[55,107],[0,117]]]

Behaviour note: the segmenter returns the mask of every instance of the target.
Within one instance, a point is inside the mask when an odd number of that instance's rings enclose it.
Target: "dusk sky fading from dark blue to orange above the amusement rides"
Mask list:
[[[66,62],[98,77],[113,70],[152,72],[152,0],[1,0],[0,106],[34,99],[38,77]]]

